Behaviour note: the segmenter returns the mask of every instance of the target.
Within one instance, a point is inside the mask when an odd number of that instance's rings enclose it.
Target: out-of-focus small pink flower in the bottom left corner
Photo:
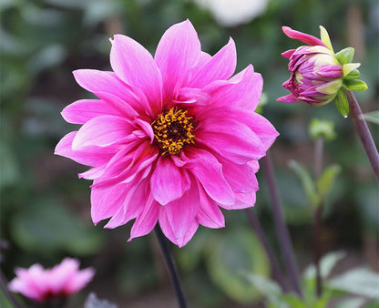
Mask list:
[[[34,264],[28,269],[16,268],[15,274],[9,282],[9,290],[37,302],[46,302],[77,293],[92,280],[95,271],[92,268],[79,271],[79,262],[66,258],[52,269]]]

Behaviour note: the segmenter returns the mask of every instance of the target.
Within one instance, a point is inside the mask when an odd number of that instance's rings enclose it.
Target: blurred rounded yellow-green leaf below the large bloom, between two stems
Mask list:
[[[206,257],[211,281],[239,303],[260,299],[261,292],[243,273],[254,272],[268,277],[270,266],[261,242],[251,229],[228,229],[218,241],[212,241],[211,246]]]

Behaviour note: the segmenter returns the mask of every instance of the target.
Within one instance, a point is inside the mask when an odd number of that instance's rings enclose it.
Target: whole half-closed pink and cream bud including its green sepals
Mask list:
[[[349,109],[342,88],[348,90],[365,90],[367,86],[357,78],[359,63],[353,60],[353,48],[345,48],[334,54],[328,33],[321,28],[321,37],[304,34],[283,26],[285,35],[298,39],[308,46],[291,49],[282,56],[290,60],[288,68],[292,73],[290,79],[283,83],[283,87],[292,93],[278,101],[287,103],[304,102],[313,106],[323,106],[336,98],[337,108],[343,115]]]

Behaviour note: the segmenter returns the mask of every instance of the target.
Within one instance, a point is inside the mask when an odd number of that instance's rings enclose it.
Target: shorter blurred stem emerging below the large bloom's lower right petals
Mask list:
[[[282,270],[279,266],[279,263],[277,262],[277,260],[275,258],[275,255],[271,251],[269,241],[267,241],[266,235],[264,234],[264,231],[261,228],[261,222],[258,220],[253,209],[246,209],[246,215],[248,216],[248,219],[251,223],[252,229],[255,231],[255,234],[257,235],[257,237],[261,241],[263,249],[267,253],[267,257],[269,258],[269,262],[270,262],[271,270],[272,270],[272,275],[273,275],[274,279],[280,284],[280,286],[282,287],[282,290],[284,292],[288,291],[287,285],[284,281],[284,276],[283,276]]]

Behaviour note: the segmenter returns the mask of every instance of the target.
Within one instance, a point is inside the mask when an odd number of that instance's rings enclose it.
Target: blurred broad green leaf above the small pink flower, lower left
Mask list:
[[[41,200],[17,211],[10,232],[26,252],[44,255],[56,252],[86,255],[97,252],[102,244],[102,233],[93,227],[86,228],[74,213],[54,200]]]

